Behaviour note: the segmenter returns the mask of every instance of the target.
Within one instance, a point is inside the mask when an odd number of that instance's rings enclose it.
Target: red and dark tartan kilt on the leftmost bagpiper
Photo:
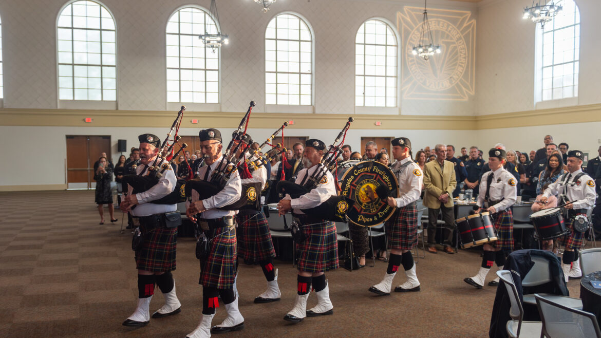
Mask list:
[[[145,232],[142,248],[136,251],[136,269],[151,272],[175,270],[175,245],[177,244],[177,227],[157,228]]]

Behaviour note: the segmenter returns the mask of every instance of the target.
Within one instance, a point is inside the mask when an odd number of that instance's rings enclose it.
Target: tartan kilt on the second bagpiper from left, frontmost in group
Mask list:
[[[217,289],[230,289],[236,277],[236,227],[204,232],[209,238],[209,254],[200,260],[198,284]]]

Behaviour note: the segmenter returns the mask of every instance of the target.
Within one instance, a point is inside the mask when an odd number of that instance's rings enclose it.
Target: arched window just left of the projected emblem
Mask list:
[[[367,20],[357,31],[355,105],[397,106],[397,37],[382,20]]]

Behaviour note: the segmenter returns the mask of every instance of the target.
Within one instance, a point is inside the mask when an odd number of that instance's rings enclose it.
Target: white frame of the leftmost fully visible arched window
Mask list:
[[[112,13],[111,9],[103,4],[103,2],[98,1],[98,0],[87,0],[90,2],[95,2],[96,4],[100,5],[101,7],[103,7],[106,11],[108,11],[108,13],[111,15],[111,19],[113,22],[113,25],[115,26],[115,100],[76,100],[75,99],[75,93],[73,95],[73,99],[66,99],[63,100],[60,98],[60,85],[59,85],[59,66],[61,65],[59,63],[59,57],[58,57],[58,20],[59,17],[61,16],[61,14],[63,13],[64,9],[69,6],[72,5],[75,2],[78,2],[81,0],[71,0],[69,2],[67,2],[66,4],[63,5],[63,7],[61,7],[61,9],[58,11],[58,15],[56,15],[56,22],[55,22],[55,32],[56,32],[56,101],[57,101],[57,106],[58,108],[66,108],[66,109],[81,109],[81,108],[86,108],[86,109],[117,109],[118,108],[118,97],[119,97],[119,84],[118,84],[118,74],[119,74],[119,69],[118,69],[118,35],[117,35],[117,31],[118,31],[118,27],[117,27],[117,20],[115,20],[115,14]],[[101,19],[102,20],[102,19]],[[73,26],[70,27],[70,29],[76,29]],[[85,29],[90,29],[90,28],[85,28]],[[102,26],[99,29],[99,31],[103,31]],[[101,39],[102,39],[102,34],[101,34]],[[72,37],[72,41],[73,41],[73,37]],[[100,41],[100,45],[101,45],[101,49],[100,49],[100,55],[102,58],[102,40]],[[73,51],[72,51],[73,52]],[[75,61],[75,60],[72,60]],[[75,63],[71,63],[73,66],[97,66],[97,65],[92,65],[92,64],[75,64]],[[102,67],[103,64],[99,65],[100,69],[101,69],[101,74],[102,74]],[[103,77],[101,75],[100,77],[100,82],[102,84],[103,82]],[[73,88],[75,90],[75,83],[73,84]],[[102,89],[101,89],[102,90]]]

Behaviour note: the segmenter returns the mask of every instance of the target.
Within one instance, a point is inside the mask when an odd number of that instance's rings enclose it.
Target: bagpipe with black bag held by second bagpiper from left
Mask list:
[[[203,179],[192,179],[186,183],[185,186],[185,195],[188,198],[188,201],[192,202],[192,190],[198,193],[198,200],[205,200],[206,198],[215,196],[219,191],[222,191],[227,185],[228,180],[231,177],[231,174],[237,170],[237,164],[239,164],[245,158],[246,150],[248,150],[252,144],[252,140],[246,137],[246,129],[248,128],[248,121],[251,115],[252,107],[255,106],[255,102],[251,101],[248,106],[248,111],[240,121],[240,124],[236,131],[232,134],[232,139],[225,149],[224,155],[221,157],[221,160],[213,170],[213,173],[209,177],[208,180]],[[238,156],[236,153],[242,149]],[[208,170],[208,169],[207,169]],[[258,185],[258,188],[257,188]],[[230,204],[228,206],[219,207],[221,210],[239,210],[239,209],[248,209],[248,201],[254,195],[253,200],[251,201],[252,209],[260,208],[260,188],[261,183],[251,183],[246,186],[246,190],[243,187],[243,196],[249,197],[248,199],[240,198],[236,203]],[[254,194],[253,194],[254,190]],[[242,201],[243,200],[243,201]],[[242,205],[240,205],[242,204]]]

